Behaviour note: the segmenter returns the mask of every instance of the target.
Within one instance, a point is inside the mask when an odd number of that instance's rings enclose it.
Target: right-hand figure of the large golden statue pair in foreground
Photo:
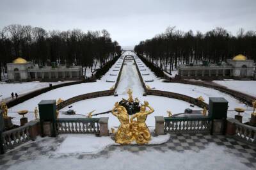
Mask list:
[[[147,107],[149,111],[146,111]],[[140,112],[137,112],[131,117],[132,135],[138,144],[146,144],[150,141],[151,135],[145,121],[147,120],[148,114],[152,112],[154,112],[154,109],[145,101],[144,105],[140,107]],[[136,118],[137,121],[134,121],[134,118]]]

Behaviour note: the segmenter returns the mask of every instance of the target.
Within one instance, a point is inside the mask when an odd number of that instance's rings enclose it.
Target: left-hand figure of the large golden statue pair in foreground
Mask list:
[[[115,142],[119,144],[129,144],[134,139],[132,139],[132,132],[129,123],[129,115],[125,107],[115,103],[115,107],[112,109],[112,114],[118,118],[120,125],[117,132],[115,133]]]

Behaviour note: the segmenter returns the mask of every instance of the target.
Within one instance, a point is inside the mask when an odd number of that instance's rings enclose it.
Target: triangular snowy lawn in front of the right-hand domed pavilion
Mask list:
[[[256,98],[256,81],[234,81],[234,80],[225,80],[225,81],[213,81],[221,86],[225,86],[229,89],[234,89],[242,93],[251,95]]]

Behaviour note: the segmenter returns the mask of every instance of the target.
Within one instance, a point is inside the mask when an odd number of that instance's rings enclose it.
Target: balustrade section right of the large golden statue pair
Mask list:
[[[164,118],[164,132],[165,133],[208,133],[211,132],[212,120],[208,117],[194,117],[194,118]]]

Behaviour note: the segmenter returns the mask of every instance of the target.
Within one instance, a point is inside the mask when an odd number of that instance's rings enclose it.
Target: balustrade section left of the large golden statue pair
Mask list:
[[[56,120],[59,134],[99,134],[100,118],[60,118]]]

